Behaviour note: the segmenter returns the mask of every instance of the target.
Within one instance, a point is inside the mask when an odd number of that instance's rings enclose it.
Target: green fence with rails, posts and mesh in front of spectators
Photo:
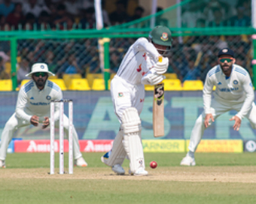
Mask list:
[[[34,26],[31,30],[0,31],[0,78],[11,78],[15,90],[33,63],[45,62],[58,78],[63,74],[78,73],[84,78],[102,74],[107,89],[109,77],[117,72],[130,45],[138,37],[148,37],[152,27],[163,25],[172,30],[174,39],[168,72],[176,74],[181,83],[204,81],[217,63],[219,49],[228,46],[235,51],[236,64],[248,70],[255,86],[256,31],[247,18],[251,1],[241,4],[184,0],[148,17],[102,30],[74,24],[70,29]],[[238,16],[245,17],[241,23],[237,23]],[[192,21],[194,26],[187,25]]]

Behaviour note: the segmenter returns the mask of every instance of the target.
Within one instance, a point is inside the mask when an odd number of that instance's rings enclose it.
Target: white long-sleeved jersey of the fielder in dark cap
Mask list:
[[[212,68],[206,75],[203,88],[203,107],[206,114],[210,113],[213,86],[216,86],[216,101],[227,106],[243,103],[242,109],[236,115],[244,118],[254,101],[254,90],[248,72],[239,65],[233,65],[230,77],[227,78],[220,65]]]

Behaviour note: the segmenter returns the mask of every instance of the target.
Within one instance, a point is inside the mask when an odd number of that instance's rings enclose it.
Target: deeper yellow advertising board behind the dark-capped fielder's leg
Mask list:
[[[190,140],[186,140],[187,151]],[[202,139],[196,152],[243,152],[241,139]]]

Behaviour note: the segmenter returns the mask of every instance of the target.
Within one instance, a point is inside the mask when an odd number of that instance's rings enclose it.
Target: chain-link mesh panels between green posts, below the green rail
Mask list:
[[[236,64],[252,72],[252,40],[249,35],[201,35],[173,37],[168,73],[185,80],[205,80],[206,73],[217,65],[218,51],[230,47],[235,51]],[[115,74],[123,55],[136,40],[135,37],[112,38],[109,43],[109,72]],[[0,41],[0,56],[7,77],[11,78],[10,43]],[[22,39],[17,40],[17,84],[26,79],[25,74],[35,62],[44,62],[50,71],[62,79],[63,74],[101,74],[97,38]],[[1,63],[1,62],[0,62]],[[4,79],[2,77],[2,79]]]

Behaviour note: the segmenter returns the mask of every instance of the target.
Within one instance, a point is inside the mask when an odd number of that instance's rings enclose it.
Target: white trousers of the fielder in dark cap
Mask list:
[[[230,103],[230,102],[219,102],[215,101],[215,99],[212,100],[212,107],[211,107],[211,113],[213,115],[213,118],[218,118],[218,116],[230,111],[230,110],[236,110],[239,112],[242,108],[242,103]],[[203,113],[197,118],[196,123],[194,124],[191,136],[190,136],[190,143],[188,146],[188,149],[192,152],[195,152],[197,150],[197,145],[199,145],[200,140],[203,137],[203,133],[206,130],[206,127],[204,125],[206,114]],[[255,104],[251,104],[251,110],[248,111],[248,114],[245,115],[246,118],[248,118],[248,121],[250,121],[251,127],[256,129],[256,107]],[[212,120],[209,121],[209,125],[212,124]]]

